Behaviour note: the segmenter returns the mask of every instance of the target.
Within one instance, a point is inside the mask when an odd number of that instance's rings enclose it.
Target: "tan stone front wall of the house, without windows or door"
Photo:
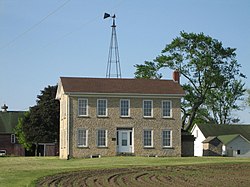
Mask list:
[[[115,156],[117,128],[132,128],[134,132],[134,154],[136,156],[181,156],[181,111],[180,99],[174,98],[128,98],[128,97],[89,97],[88,116],[78,116],[78,98],[70,99],[70,156],[89,157],[91,155]],[[108,116],[97,117],[97,99],[108,100]],[[130,117],[120,117],[120,99],[130,99]],[[153,100],[153,118],[143,118],[143,100]],[[162,118],[162,100],[172,100],[172,118]],[[77,130],[88,130],[88,147],[77,146]],[[107,130],[107,147],[97,147],[97,130]],[[144,148],[143,130],[153,130],[153,147]],[[172,148],[163,149],[162,130],[172,130]]]

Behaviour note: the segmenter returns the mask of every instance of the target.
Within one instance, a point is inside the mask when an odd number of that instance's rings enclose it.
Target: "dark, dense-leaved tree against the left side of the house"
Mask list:
[[[30,149],[38,143],[55,142],[59,137],[59,101],[55,100],[57,86],[48,86],[37,96],[37,104],[22,119],[15,129],[19,142]]]

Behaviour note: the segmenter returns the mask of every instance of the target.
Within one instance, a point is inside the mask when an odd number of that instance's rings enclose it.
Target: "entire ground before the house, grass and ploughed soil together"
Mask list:
[[[250,186],[250,158],[0,157],[0,186]]]

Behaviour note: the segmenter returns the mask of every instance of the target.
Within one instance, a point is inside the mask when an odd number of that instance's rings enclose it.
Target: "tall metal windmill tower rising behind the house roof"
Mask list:
[[[104,19],[111,17],[110,14],[105,13]],[[106,78],[121,78],[121,66],[120,66],[120,57],[118,51],[118,42],[116,36],[116,25],[115,25],[115,14],[111,17],[113,19],[112,24],[112,34],[111,41],[109,46],[109,54],[108,54],[108,63],[106,69]]]

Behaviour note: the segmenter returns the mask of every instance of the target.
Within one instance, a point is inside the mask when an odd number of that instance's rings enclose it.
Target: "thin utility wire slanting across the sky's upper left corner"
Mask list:
[[[50,12],[48,15],[46,15],[45,17],[43,17],[39,22],[37,22],[36,24],[32,25],[30,28],[28,28],[27,30],[25,30],[24,32],[22,32],[21,34],[17,35],[14,39],[12,39],[11,41],[9,41],[8,43],[6,43],[5,45],[0,47],[0,50],[7,48],[8,46],[10,46],[11,44],[15,43],[18,39],[20,39],[21,37],[23,37],[24,35],[26,35],[27,33],[31,32],[32,30],[34,30],[36,27],[38,27],[41,23],[43,23],[46,19],[48,19],[50,16],[52,16],[53,14],[55,14],[56,12],[58,12],[60,9],[62,9],[66,4],[68,4],[71,0],[67,0],[65,1],[62,5],[60,5],[59,7],[57,7],[55,10],[53,10],[52,12]]]

